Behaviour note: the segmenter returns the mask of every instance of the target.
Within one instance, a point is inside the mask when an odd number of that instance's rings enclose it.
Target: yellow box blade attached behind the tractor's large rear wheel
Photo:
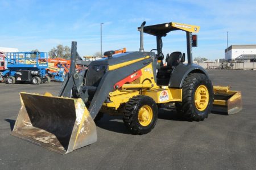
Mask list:
[[[231,91],[224,86],[214,86],[213,91],[213,112],[235,114],[242,110],[241,91]]]

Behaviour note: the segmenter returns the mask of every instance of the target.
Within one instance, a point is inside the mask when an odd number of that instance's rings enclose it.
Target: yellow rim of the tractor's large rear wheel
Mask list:
[[[206,86],[200,85],[195,92],[195,105],[197,110],[204,111],[209,103],[209,91]]]

